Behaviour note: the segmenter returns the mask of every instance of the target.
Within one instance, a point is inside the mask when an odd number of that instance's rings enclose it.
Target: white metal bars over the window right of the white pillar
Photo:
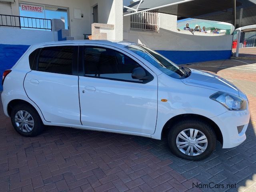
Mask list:
[[[152,11],[131,15],[130,28],[146,31],[159,30],[159,14]]]

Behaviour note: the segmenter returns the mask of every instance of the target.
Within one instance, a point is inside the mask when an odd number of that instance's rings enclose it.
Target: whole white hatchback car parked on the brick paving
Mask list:
[[[64,41],[30,46],[3,75],[2,103],[16,131],[44,125],[167,138],[188,160],[246,139],[246,95],[216,75],[181,67],[139,44]]]

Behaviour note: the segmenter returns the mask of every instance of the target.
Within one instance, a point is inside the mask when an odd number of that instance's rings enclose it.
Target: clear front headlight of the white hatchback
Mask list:
[[[217,92],[210,96],[210,99],[224,105],[228,110],[244,110],[246,109],[246,101],[238,96],[228,93]]]

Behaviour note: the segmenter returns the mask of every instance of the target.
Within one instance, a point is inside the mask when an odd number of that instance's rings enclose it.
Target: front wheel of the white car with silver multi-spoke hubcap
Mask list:
[[[174,124],[168,133],[168,144],[173,154],[187,160],[202,160],[216,147],[216,134],[201,120],[183,120]]]

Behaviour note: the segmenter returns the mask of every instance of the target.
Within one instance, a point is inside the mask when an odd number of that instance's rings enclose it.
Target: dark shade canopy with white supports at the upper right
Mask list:
[[[174,5],[165,6],[168,4]],[[155,12],[177,15],[178,20],[198,18],[222,21],[236,28],[256,24],[256,0],[139,0],[128,7],[138,7],[138,11],[156,8]],[[124,12],[132,10],[124,8]]]

